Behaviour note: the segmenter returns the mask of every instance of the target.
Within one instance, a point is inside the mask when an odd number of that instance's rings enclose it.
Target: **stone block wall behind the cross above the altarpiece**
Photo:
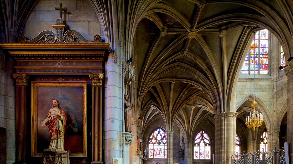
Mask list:
[[[91,4],[87,0],[38,1],[25,22],[22,34],[29,40],[45,30],[54,32],[52,25],[60,17],[59,10],[55,10],[59,3],[66,8],[66,11],[62,11],[62,19],[67,30],[77,30],[89,40],[93,40],[96,34],[103,37],[99,19],[94,9],[89,7]]]

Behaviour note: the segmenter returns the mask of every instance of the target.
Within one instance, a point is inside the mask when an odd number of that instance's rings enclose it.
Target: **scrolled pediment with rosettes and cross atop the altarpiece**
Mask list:
[[[66,8],[56,7],[56,10],[60,11],[60,18],[56,20],[55,25],[52,27],[55,29],[55,33],[51,30],[45,30],[40,32],[35,38],[27,40],[26,36],[21,34],[18,36],[18,42],[20,43],[101,43],[102,37],[95,35],[93,40],[86,39],[80,32],[76,30],[67,30],[65,28],[64,21],[62,19],[62,10]]]

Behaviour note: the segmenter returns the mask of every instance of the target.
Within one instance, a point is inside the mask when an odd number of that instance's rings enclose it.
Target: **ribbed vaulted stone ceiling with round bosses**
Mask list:
[[[167,130],[176,123],[192,135],[200,120],[214,123],[212,114],[236,112],[236,82],[251,36],[259,29],[278,38],[286,59],[292,54],[292,1],[88,1],[105,42],[127,52],[125,61],[134,58],[135,97],[144,126],[162,118]],[[1,3],[5,38],[0,40],[13,42],[37,1]]]

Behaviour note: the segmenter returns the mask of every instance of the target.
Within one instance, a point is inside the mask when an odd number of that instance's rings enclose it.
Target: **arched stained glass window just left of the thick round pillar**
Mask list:
[[[204,131],[200,131],[195,137],[194,159],[211,159],[209,136]]]

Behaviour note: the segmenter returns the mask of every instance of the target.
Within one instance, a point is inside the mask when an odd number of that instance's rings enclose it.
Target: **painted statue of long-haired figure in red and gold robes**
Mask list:
[[[66,115],[60,107],[57,99],[53,99],[53,106],[49,110],[45,121],[41,122],[41,126],[48,125],[49,127],[49,149],[64,150],[64,133],[66,125]]]

